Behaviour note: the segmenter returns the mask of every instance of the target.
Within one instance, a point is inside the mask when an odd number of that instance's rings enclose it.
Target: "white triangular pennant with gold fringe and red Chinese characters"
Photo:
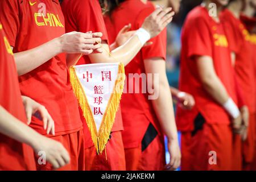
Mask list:
[[[70,68],[70,80],[96,147],[104,151],[125,84],[122,63],[76,65]]]

